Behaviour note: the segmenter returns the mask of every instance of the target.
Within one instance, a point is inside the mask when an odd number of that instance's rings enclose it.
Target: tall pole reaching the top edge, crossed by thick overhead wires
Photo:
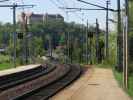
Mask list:
[[[109,14],[109,11],[108,11],[108,5],[109,5],[109,1],[106,1],[106,34],[105,34],[105,58],[108,59],[109,57],[109,47],[108,47],[108,14]]]

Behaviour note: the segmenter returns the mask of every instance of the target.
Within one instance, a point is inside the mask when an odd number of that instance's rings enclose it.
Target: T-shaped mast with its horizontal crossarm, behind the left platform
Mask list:
[[[5,0],[5,1],[7,1],[7,0]],[[14,32],[13,33],[13,44],[14,44],[13,63],[14,63],[14,67],[16,67],[16,8],[34,7],[34,6],[35,5],[17,5],[15,3],[13,3],[13,5],[0,5],[0,7],[13,9],[13,32]]]

